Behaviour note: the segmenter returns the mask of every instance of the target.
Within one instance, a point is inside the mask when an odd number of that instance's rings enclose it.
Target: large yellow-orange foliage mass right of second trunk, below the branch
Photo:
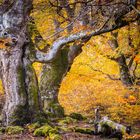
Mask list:
[[[123,29],[127,32],[127,29]],[[124,40],[120,38],[119,43]],[[102,115],[108,115],[118,122],[135,123],[140,119],[140,87],[126,88],[119,80],[118,64],[107,58],[115,56],[107,40],[109,34],[94,37],[83,47],[83,52],[75,59],[68,75],[63,79],[59,91],[59,101],[65,112],[70,114],[94,113],[96,106],[103,108]],[[120,41],[121,39],[121,41]],[[120,51],[127,54],[128,44],[120,45]],[[115,54],[116,53],[116,54]],[[131,52],[132,53],[132,52]],[[137,56],[138,57],[138,56]],[[139,69],[138,69],[139,70]]]

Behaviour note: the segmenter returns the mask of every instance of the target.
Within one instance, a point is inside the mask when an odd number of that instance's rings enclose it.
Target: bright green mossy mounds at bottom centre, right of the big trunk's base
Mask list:
[[[75,119],[74,119],[75,118]],[[33,123],[27,125],[27,129],[29,132],[33,133],[36,137],[46,137],[51,140],[61,140],[63,133],[70,133],[70,132],[78,132],[84,134],[93,134],[93,129],[90,128],[83,128],[78,127],[76,124],[78,120],[83,120],[83,118],[78,115],[78,117],[64,117],[61,119],[57,119],[55,122],[51,123]]]

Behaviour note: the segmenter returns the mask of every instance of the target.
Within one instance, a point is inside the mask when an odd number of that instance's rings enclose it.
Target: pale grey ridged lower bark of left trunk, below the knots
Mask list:
[[[3,118],[4,124],[8,125],[14,121],[14,111],[17,106],[24,106],[27,101],[23,77],[22,48],[15,48],[12,52],[0,51],[0,58],[2,81],[6,96]]]

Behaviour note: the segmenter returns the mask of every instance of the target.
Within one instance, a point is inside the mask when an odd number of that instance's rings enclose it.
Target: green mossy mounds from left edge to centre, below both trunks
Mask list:
[[[93,129],[83,128],[78,124],[83,123],[81,115],[71,115],[64,118],[57,118],[54,121],[37,121],[27,124],[24,128],[21,126],[0,127],[0,134],[18,135],[23,132],[32,133],[35,137],[45,137],[49,140],[62,140],[61,134],[78,132],[84,134],[93,134]],[[84,122],[85,123],[85,122]]]

